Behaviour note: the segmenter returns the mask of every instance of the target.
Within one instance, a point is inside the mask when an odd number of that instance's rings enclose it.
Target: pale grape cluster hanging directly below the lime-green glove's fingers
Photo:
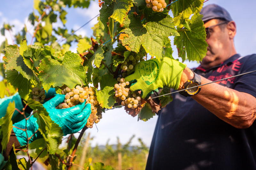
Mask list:
[[[131,92],[129,88],[126,88],[126,85],[129,85],[129,82],[125,82],[124,78],[117,78],[119,84],[115,84],[114,91],[115,96],[119,99],[123,100],[121,105],[127,106],[129,108],[135,109],[136,107],[141,105],[141,95],[136,92]]]

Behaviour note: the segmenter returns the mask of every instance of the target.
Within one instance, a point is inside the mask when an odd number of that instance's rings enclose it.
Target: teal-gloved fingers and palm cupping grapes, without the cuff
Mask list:
[[[43,106],[49,113],[52,121],[60,125],[64,135],[68,135],[78,132],[85,126],[91,114],[91,104],[85,106],[85,102],[83,102],[74,107],[56,109],[64,99],[64,94],[57,94],[54,98],[45,102]]]

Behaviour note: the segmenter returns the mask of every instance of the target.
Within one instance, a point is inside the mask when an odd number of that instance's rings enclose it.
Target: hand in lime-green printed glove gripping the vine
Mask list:
[[[159,63],[156,58],[137,63],[135,72],[125,78],[131,83],[132,91],[140,91],[144,99],[148,99],[154,91],[164,86],[178,89],[180,86],[181,73],[186,64],[180,63],[168,57],[164,57]]]

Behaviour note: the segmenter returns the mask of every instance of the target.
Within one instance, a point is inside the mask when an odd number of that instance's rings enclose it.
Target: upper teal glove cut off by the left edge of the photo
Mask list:
[[[22,102],[21,102],[21,98],[19,93],[15,93],[13,96],[9,96],[9,97],[5,97],[3,99],[0,99],[0,118],[4,117],[4,115],[6,114],[6,109],[8,107],[8,104],[10,103],[10,101],[14,101],[15,102],[15,108],[19,109],[20,111],[22,111],[23,106],[22,106]],[[12,120],[19,115],[20,113],[15,110],[13,115],[12,115]]]

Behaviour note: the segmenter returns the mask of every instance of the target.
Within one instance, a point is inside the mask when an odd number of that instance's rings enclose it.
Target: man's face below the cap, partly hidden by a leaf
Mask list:
[[[204,24],[205,28],[213,26],[209,28],[210,37],[206,40],[208,44],[207,53],[201,62],[205,69],[219,65],[230,57],[228,51],[231,47],[231,42],[228,36],[228,29],[226,27],[221,29],[220,26],[214,26],[218,23],[217,19],[212,19]]]

